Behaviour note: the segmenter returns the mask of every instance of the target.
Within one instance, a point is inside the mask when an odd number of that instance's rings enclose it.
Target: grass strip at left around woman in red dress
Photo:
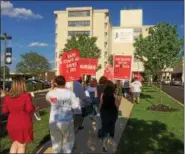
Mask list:
[[[40,111],[42,117],[41,121],[34,122],[34,141],[27,145],[27,153],[33,153],[38,146],[42,145],[45,141],[49,140],[49,109]],[[11,142],[7,135],[0,138],[0,153],[8,154]]]

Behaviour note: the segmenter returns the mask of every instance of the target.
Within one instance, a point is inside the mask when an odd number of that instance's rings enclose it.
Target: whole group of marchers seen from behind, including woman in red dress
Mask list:
[[[138,80],[129,86],[134,100],[138,102],[141,86]],[[90,117],[96,124],[95,131],[102,139],[104,152],[107,152],[108,140],[115,146],[114,131],[122,90],[125,93],[120,81],[114,84],[104,76],[99,83],[94,78],[86,83],[81,80],[66,83],[63,76],[56,76],[52,80],[52,89],[46,94],[51,105],[49,128],[53,153],[71,153],[76,148],[75,136],[83,129],[85,117]],[[10,153],[25,153],[26,143],[33,141],[32,114],[38,109],[32,104],[31,94],[26,91],[25,80],[15,78],[2,107],[2,113],[9,113]]]

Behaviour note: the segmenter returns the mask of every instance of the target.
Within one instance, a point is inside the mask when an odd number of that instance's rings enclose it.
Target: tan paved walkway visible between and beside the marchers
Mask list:
[[[115,129],[115,141],[119,143],[122,132],[127,124],[127,120],[130,117],[133,104],[129,101],[122,99],[120,105],[120,114],[116,122]],[[94,130],[95,127],[92,124],[92,120],[89,117],[84,119],[84,129],[80,131],[76,136],[77,148],[74,153],[87,154],[87,153],[102,153],[101,140],[97,138],[97,133]],[[108,153],[113,153],[111,146],[108,149]],[[43,147],[39,149],[37,153],[52,153],[51,141],[47,142]]]

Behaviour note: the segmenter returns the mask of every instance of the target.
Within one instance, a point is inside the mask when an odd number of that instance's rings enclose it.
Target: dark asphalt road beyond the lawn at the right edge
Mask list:
[[[155,85],[159,87],[159,84]],[[184,86],[162,85],[162,90],[180,103],[184,104]]]

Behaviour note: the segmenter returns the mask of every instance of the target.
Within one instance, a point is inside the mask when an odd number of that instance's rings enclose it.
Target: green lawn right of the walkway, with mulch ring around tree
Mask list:
[[[163,104],[172,112],[149,111],[147,107],[160,103],[155,86],[143,88],[141,102],[135,105],[123,132],[118,153],[184,153],[184,107],[163,93]]]

